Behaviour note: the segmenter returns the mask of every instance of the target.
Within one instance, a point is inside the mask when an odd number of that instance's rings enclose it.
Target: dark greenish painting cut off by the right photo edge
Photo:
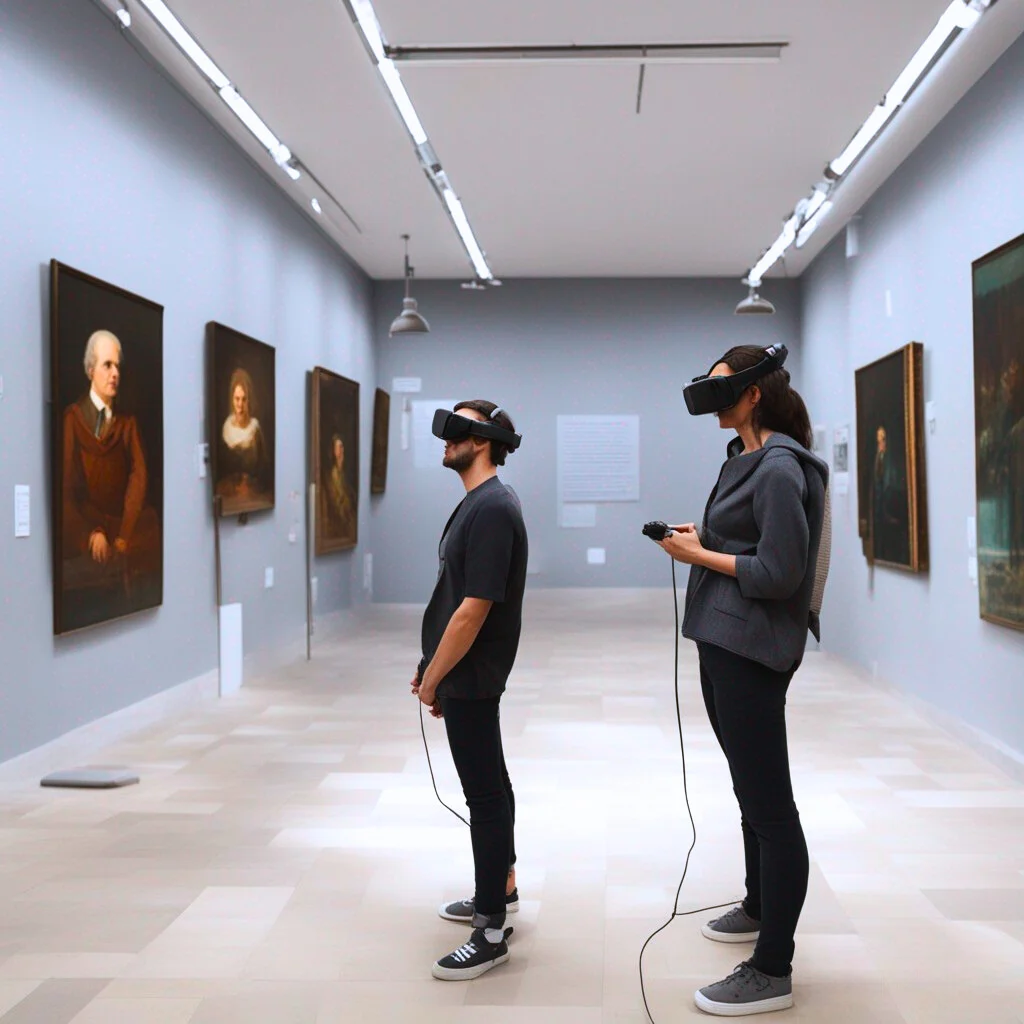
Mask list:
[[[973,269],[981,617],[1024,630],[1024,236]]]

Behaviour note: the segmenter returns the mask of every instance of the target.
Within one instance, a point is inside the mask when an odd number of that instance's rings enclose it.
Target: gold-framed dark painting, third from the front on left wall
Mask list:
[[[312,380],[315,551],[347,551],[359,527],[359,385],[323,367]]]

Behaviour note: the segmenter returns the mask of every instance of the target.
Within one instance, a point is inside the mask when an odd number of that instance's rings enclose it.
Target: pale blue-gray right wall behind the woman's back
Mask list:
[[[856,498],[837,500],[825,645],[1024,752],[1024,634],[982,622],[968,575],[975,514],[971,262],[1024,232],[1024,41],[1016,43],[804,275],[804,378],[854,423],[854,371],[925,344],[931,571],[868,571]],[[886,292],[892,315],[887,314]],[[855,471],[856,466],[852,467]]]

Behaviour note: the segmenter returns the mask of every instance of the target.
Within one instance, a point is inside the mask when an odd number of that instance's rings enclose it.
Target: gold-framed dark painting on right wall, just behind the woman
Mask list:
[[[857,507],[870,564],[928,569],[924,353],[911,342],[856,372]]]

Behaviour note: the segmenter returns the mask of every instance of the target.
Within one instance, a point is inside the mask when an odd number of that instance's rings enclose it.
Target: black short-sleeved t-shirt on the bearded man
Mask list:
[[[497,476],[474,487],[452,514],[438,549],[440,567],[423,615],[423,665],[467,597],[494,601],[466,656],[441,680],[437,695],[499,696],[515,663],[526,589],[526,524],[511,487]]]

